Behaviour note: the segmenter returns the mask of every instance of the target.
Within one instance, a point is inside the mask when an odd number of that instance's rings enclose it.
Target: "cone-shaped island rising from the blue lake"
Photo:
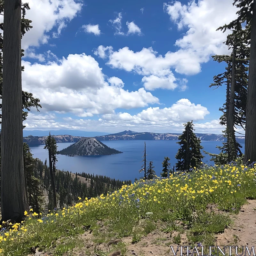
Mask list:
[[[114,148],[109,148],[95,138],[81,138],[75,144],[70,145],[57,152],[60,155],[68,156],[93,156],[93,155],[114,155],[123,153]]]

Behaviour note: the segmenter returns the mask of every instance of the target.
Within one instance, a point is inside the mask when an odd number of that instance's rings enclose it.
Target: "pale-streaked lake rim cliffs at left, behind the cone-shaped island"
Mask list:
[[[38,136],[27,136],[27,137],[23,137],[23,142],[26,142],[28,144],[28,146],[39,146],[42,144],[45,144],[45,140],[47,139],[48,136],[42,136],[42,137],[38,137]],[[72,136],[72,135],[53,135],[54,139],[56,140],[56,142],[60,143],[60,142],[76,142],[78,140],[80,140],[82,137],[78,137],[78,136]]]

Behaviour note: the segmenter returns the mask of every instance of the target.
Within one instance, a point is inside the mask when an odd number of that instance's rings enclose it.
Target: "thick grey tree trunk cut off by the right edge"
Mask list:
[[[253,1],[244,163],[256,162],[256,0]]]

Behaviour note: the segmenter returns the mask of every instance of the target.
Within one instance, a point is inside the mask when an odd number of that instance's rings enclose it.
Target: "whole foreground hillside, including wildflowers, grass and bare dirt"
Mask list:
[[[37,248],[45,256],[148,256],[169,255],[170,246],[175,252],[178,245],[251,247],[256,204],[247,204],[246,198],[256,199],[255,171],[256,165],[245,167],[238,159],[225,168],[204,165],[182,175],[124,184],[107,195],[79,197],[74,206],[47,215],[31,209],[21,225],[5,224],[0,252],[25,256]]]

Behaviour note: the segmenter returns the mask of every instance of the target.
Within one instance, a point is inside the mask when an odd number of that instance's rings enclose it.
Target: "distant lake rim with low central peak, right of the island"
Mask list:
[[[178,140],[180,133],[153,133],[153,132],[132,132],[130,130],[108,134],[104,136],[96,136],[99,141],[103,140]],[[213,133],[196,133],[201,140],[208,141],[225,141],[223,135]],[[237,142],[244,143],[244,136],[238,136]]]

